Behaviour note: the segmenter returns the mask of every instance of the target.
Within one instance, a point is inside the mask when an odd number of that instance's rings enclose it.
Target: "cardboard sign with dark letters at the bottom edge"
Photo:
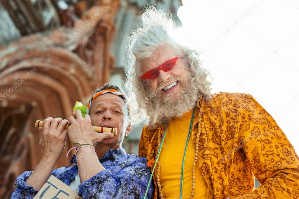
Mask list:
[[[42,186],[39,192],[34,197],[35,199],[79,199],[78,192],[65,183],[61,182],[54,175],[51,175],[48,181]],[[81,198],[82,199],[82,198]]]

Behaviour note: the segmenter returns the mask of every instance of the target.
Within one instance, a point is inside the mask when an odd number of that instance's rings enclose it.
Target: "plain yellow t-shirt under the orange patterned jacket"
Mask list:
[[[166,130],[159,157],[161,164],[160,184],[164,198],[179,198],[180,195],[181,166],[192,112],[193,109],[185,113],[181,118],[173,118]],[[195,147],[192,143],[192,135],[190,135],[184,164],[183,198],[190,198],[191,196],[194,155]],[[157,169],[155,169],[156,175]],[[198,163],[196,163],[194,198],[205,198],[207,190],[207,183],[198,168]]]

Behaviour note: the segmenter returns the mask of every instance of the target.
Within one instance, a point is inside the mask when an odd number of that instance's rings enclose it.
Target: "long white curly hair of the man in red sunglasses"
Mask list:
[[[185,58],[184,63],[189,66],[193,74],[191,84],[194,89],[202,93],[203,99],[206,101],[211,99],[211,82],[207,80],[210,72],[202,67],[199,53],[196,50],[191,50],[170,36],[171,31],[178,28],[172,20],[170,12],[165,13],[154,6],[147,6],[140,18],[141,22],[137,30],[133,31],[127,40],[128,59],[125,87],[129,92],[130,122],[138,125],[148,120],[148,124],[151,126],[157,122],[155,121],[156,107],[148,99],[144,85],[146,83],[140,78],[142,75],[140,63],[142,61],[152,58],[163,44],[170,45],[177,50],[179,56]]]

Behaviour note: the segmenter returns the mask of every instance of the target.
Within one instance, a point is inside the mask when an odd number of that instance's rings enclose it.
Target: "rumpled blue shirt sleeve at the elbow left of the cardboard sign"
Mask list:
[[[25,171],[17,177],[15,185],[18,185],[18,187],[11,194],[10,198],[34,198],[38,191],[34,190],[32,186],[28,186],[26,184],[26,181],[31,173],[32,171]]]

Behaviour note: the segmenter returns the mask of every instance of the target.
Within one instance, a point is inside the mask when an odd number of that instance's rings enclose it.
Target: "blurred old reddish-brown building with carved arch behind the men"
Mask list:
[[[68,118],[76,101],[87,104],[96,87],[123,87],[126,37],[147,4],[173,10],[181,1],[2,0],[0,3],[0,198],[42,157],[37,119]],[[142,127],[123,148],[138,152]],[[65,151],[55,168],[70,165]]]

